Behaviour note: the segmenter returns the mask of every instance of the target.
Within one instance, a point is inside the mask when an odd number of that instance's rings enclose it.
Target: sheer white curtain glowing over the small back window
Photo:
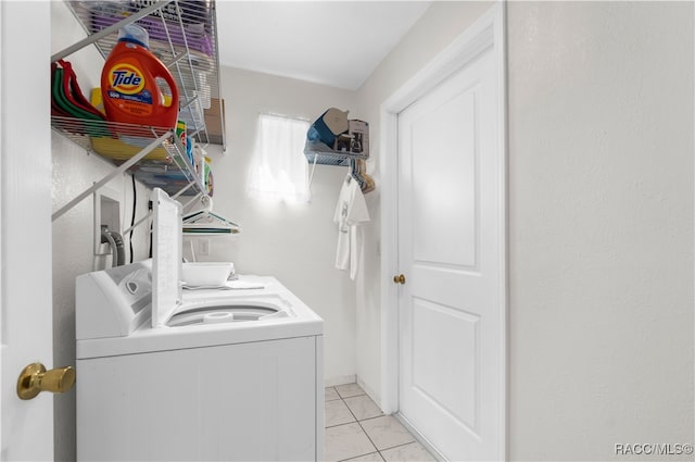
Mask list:
[[[304,143],[308,122],[261,114],[251,160],[249,196],[285,202],[308,202],[308,164]]]

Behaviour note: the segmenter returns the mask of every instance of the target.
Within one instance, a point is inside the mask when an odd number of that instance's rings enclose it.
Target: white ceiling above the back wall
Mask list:
[[[430,3],[218,0],[219,61],[355,90]]]

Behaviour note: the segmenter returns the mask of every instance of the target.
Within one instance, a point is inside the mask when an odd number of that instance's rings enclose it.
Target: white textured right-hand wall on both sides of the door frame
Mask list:
[[[375,135],[381,102],[485,9],[428,10],[358,90]],[[693,4],[507,13],[510,459],[693,442]],[[378,399],[375,215],[356,357]]]

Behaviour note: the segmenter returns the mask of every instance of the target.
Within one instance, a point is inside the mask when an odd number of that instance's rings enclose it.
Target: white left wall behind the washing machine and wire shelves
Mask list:
[[[51,2],[51,52],[55,53],[84,37],[81,27],[62,2]],[[81,50],[66,58],[74,64],[77,79],[84,92],[99,86],[103,59],[93,48]],[[48,66],[47,66],[48,71]],[[65,137],[52,134],[52,202],[53,211],[67,203],[113,171],[113,165],[89,155]],[[123,175],[106,187],[119,196],[122,225],[129,226],[132,211],[131,177]],[[147,213],[148,190],[137,185],[137,217]],[[75,277],[92,271],[93,258],[93,203],[86,198],[65,215],[53,222],[53,364],[75,365]],[[123,230],[123,229],[122,229]],[[124,239],[126,251],[128,240]],[[147,258],[148,227],[142,225],[134,233],[135,261]],[[126,253],[129,259],[129,253]],[[128,260],[127,260],[128,261]],[[77,385],[79,387],[79,371]],[[75,392],[54,400],[54,453],[55,460],[75,460]]]

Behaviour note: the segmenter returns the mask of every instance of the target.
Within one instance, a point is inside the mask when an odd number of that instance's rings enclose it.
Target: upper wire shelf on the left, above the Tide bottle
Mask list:
[[[115,47],[118,28],[135,23],[149,34],[150,51],[172,72],[180,95],[179,118],[198,142],[224,146],[224,127],[211,135],[207,112],[219,113],[219,68],[214,1],[126,0],[68,1],[93,45],[105,58]],[[55,57],[53,58],[55,60]],[[166,92],[166,88],[162,88]],[[214,123],[222,124],[222,118]]]

